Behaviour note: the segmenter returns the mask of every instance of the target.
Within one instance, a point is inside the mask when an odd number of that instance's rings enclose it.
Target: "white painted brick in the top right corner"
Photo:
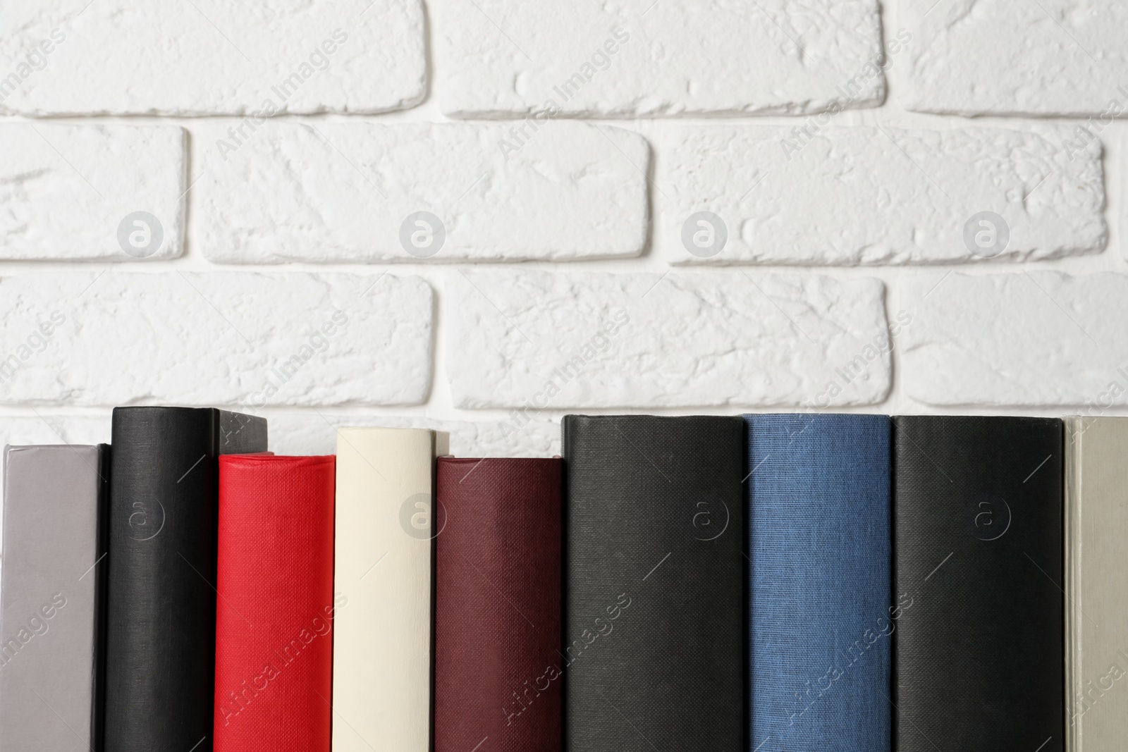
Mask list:
[[[1128,6],[1090,0],[901,0],[919,44],[897,96],[959,115],[1100,115],[1128,107]]]

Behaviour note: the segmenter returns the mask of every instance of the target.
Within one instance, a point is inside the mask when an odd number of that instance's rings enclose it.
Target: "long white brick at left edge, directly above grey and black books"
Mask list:
[[[417,404],[431,310],[387,274],[2,277],[0,402]]]

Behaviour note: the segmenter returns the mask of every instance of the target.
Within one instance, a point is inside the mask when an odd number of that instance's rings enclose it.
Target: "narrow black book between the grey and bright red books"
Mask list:
[[[265,451],[266,422],[118,407],[112,436],[106,749],[210,752],[218,460]]]

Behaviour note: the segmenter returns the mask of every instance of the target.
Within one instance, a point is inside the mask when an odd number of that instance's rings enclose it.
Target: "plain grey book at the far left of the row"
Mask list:
[[[107,450],[5,449],[0,750],[102,749]]]

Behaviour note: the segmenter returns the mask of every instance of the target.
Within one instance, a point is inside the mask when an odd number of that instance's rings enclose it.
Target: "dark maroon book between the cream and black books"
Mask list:
[[[435,752],[559,752],[561,460],[440,458]]]

